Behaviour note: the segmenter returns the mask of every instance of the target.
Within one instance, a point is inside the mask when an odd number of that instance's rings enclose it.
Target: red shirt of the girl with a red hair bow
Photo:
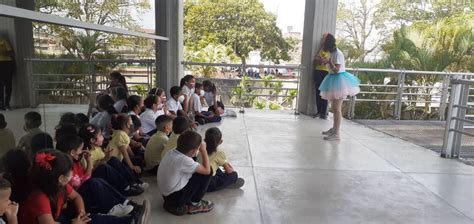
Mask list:
[[[51,214],[55,220],[61,215],[61,209],[66,203],[67,197],[73,192],[69,185],[65,186],[64,193],[58,193],[56,211],[51,211],[49,197],[37,190],[33,191],[28,198],[21,204],[18,211],[18,221],[21,224],[37,224],[38,217]],[[54,212],[54,213],[53,213]]]

